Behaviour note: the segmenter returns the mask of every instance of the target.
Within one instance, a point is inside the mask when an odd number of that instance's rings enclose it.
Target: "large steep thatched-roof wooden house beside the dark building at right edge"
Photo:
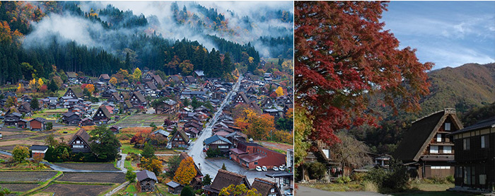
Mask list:
[[[412,123],[393,154],[409,166],[412,178],[454,175],[454,143],[447,134],[462,129],[455,109],[444,109]]]

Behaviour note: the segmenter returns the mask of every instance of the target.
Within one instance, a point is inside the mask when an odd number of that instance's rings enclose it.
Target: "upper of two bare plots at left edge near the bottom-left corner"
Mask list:
[[[0,171],[0,181],[44,182],[56,174],[56,171]]]

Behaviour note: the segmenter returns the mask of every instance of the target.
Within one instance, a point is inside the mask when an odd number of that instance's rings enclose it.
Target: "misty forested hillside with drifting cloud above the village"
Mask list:
[[[255,71],[260,57],[292,59],[291,8],[260,3],[260,15],[192,2],[140,4],[153,8],[144,13],[126,7],[136,4],[117,4],[122,10],[98,1],[2,1],[0,84],[135,67],[169,75],[204,70],[233,81],[232,71]]]

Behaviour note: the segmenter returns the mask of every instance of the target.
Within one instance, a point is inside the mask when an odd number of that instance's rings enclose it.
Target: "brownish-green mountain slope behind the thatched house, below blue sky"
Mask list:
[[[390,154],[402,140],[411,122],[443,108],[455,108],[462,123],[470,124],[484,117],[494,108],[495,63],[464,64],[429,72],[430,94],[420,100],[417,113],[393,115],[389,107],[382,107],[371,98],[370,108],[383,117],[380,127],[354,127],[350,130],[357,139],[366,142],[376,153]],[[379,95],[378,95],[379,96]]]

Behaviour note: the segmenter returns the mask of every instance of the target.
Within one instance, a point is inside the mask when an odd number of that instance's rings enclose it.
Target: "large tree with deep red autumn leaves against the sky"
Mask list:
[[[379,19],[383,1],[296,1],[296,103],[314,117],[309,139],[332,144],[338,129],[376,125],[369,98],[380,93],[380,105],[392,110],[419,109],[429,93],[426,71],[410,47]],[[296,129],[297,130],[297,129]],[[298,135],[298,134],[296,134]]]

